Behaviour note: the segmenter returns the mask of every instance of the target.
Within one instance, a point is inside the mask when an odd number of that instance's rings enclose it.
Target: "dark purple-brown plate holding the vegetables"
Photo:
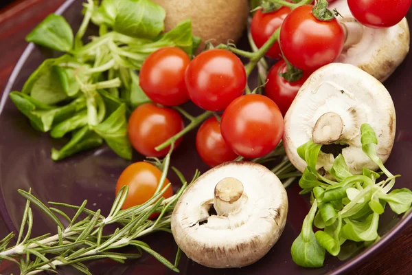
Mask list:
[[[58,10],[73,29],[76,30],[82,20],[80,13],[82,1],[67,1]],[[412,21],[412,14],[408,18]],[[32,192],[43,202],[61,201],[71,204],[82,203],[88,199],[89,208],[108,212],[114,199],[116,179],[130,163],[117,157],[109,148],[103,146],[71,157],[62,162],[53,162],[50,158],[52,146],[61,146],[65,140],[53,140],[48,134],[34,131],[26,118],[19,113],[8,97],[10,91],[21,90],[25,80],[45,59],[51,57],[50,52],[29,45],[19,63],[16,65],[0,102],[0,212],[9,230],[19,227],[24,199],[16,192],[21,188]],[[400,65],[396,72],[385,82],[396,106],[398,117],[396,142],[387,166],[393,173],[401,174],[397,188],[412,189],[412,58]],[[191,113],[200,113],[192,104],[185,106]],[[185,136],[185,141],[172,157],[172,165],[179,168],[186,177],[191,177],[196,168],[202,172],[207,166],[198,158],[194,137],[196,131]],[[136,155],[134,160],[143,157]],[[170,180],[177,182],[170,173]],[[174,186],[178,187],[177,185]],[[407,217],[398,217],[387,211],[380,219],[380,235],[382,239],[371,248],[354,256],[348,261],[326,259],[325,267],[320,269],[304,269],[293,263],[290,246],[301,230],[301,223],[308,212],[306,198],[298,195],[299,186],[295,184],[288,189],[289,214],[284,234],[273,249],[258,263],[242,269],[211,270],[182,258],[179,269],[182,274],[343,274],[358,263],[367,261],[375,252],[382,249],[392,237],[412,220],[412,212]],[[69,213],[70,214],[70,213]],[[34,235],[55,232],[54,223],[45,219],[39,212],[34,212]],[[176,245],[172,236],[155,234],[146,241],[170,261],[174,260]],[[113,264],[111,261],[98,261],[89,264],[93,274],[174,274],[150,256],[137,261],[128,261],[125,265]],[[77,274],[71,269],[60,269],[61,274]]]

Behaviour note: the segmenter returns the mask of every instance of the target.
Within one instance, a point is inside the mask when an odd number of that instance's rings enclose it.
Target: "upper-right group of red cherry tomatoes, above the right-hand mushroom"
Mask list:
[[[336,0],[328,0],[333,1]],[[347,0],[347,4],[356,20],[368,28],[389,28],[407,14],[411,0]],[[285,61],[281,60],[268,72],[266,96],[277,103],[283,115],[310,74],[336,60],[343,49],[345,36],[339,22],[336,19],[319,21],[312,14],[312,8],[313,5],[302,5],[294,10],[288,7],[273,12],[257,10],[251,21],[251,34],[258,47],[282,25],[279,43],[275,43],[266,56],[281,58],[283,54],[291,65],[304,71],[299,80],[288,82],[279,75],[287,70]]]

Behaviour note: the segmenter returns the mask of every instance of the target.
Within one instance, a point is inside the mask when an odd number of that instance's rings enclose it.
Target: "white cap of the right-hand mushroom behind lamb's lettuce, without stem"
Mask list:
[[[365,155],[361,144],[361,125],[369,123],[378,137],[378,157],[389,157],[396,132],[396,114],[387,89],[376,78],[350,64],[332,63],[314,72],[301,89],[285,115],[284,147],[290,162],[302,173],[306,162],[297,148],[312,140],[314,126],[325,113],[341,116],[347,144],[342,155],[350,171],[361,174],[363,167],[377,170],[378,166]],[[334,156],[319,153],[317,169],[332,168]]]

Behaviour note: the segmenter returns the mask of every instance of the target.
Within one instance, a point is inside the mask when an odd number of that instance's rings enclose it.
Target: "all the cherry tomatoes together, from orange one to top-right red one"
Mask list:
[[[347,0],[354,17],[370,28],[396,25],[406,15],[411,1]],[[254,158],[273,151],[283,135],[283,115],[301,85],[314,70],[332,63],[343,49],[345,34],[339,22],[320,21],[312,8],[313,5],[301,5],[294,10],[282,7],[273,12],[257,10],[253,15],[251,34],[255,44],[262,47],[282,25],[279,43],[266,56],[283,57],[303,71],[300,79],[288,81],[279,74],[287,71],[286,62],[275,63],[268,72],[266,96],[243,95],[247,74],[240,59],[228,50],[207,50],[192,61],[176,47],[150,54],[139,77],[141,88],[153,103],[137,107],[130,116],[128,137],[133,147],[147,157],[167,155],[170,147],[160,151],[155,147],[185,127],[181,113],[173,107],[192,100],[198,107],[215,112],[196,135],[198,154],[209,166],[239,155]],[[174,148],[180,143],[181,138],[174,142]],[[117,181],[117,192],[122,186],[129,186],[124,208],[152,197],[160,177],[161,171],[147,162],[128,166]],[[168,183],[166,179],[165,184]],[[171,195],[169,188],[163,197]]]

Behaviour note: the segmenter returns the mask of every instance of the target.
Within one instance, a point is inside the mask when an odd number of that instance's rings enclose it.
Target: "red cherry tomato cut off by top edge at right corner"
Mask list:
[[[398,24],[411,8],[411,0],[347,0],[357,21],[369,28]]]

